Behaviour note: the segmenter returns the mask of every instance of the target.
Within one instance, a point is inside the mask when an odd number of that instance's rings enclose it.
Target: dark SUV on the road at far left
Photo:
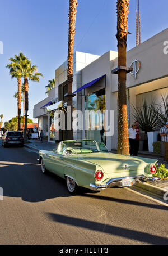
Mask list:
[[[24,146],[24,137],[20,131],[6,131],[2,137],[2,146],[19,145]]]

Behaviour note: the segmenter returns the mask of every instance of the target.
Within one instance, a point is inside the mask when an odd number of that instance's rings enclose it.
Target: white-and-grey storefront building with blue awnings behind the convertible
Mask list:
[[[95,129],[92,129],[92,115],[83,115],[82,131],[74,131],[74,138],[91,138],[106,143],[108,149],[117,147],[117,109],[118,109],[118,75],[111,71],[118,66],[118,53],[108,51],[102,56],[90,55],[87,53],[74,53],[74,74],[73,74],[73,106],[77,110],[97,111],[113,110],[114,116],[108,125],[113,131],[113,135],[105,136],[104,123],[100,125],[100,119],[94,120]],[[133,74],[127,74],[127,104],[129,124],[134,122],[132,108],[142,107],[145,98],[149,104],[155,100],[156,105],[161,104],[162,95],[168,93],[168,29],[158,33],[154,37],[139,44],[127,52],[127,66],[132,67]],[[41,106],[50,100],[65,100],[60,97],[60,88],[63,83],[67,83],[67,62],[64,62],[55,71],[55,88],[49,92],[49,97],[39,102],[34,107],[34,118],[39,120],[40,125],[48,129],[49,141],[52,140],[50,113]],[[77,91],[78,90],[78,91]],[[77,92],[76,92],[77,91]],[[66,92],[66,89],[64,90]],[[62,95],[64,95],[62,92]],[[54,101],[53,101],[54,102]],[[102,120],[104,121],[104,116]],[[47,124],[48,123],[48,127]],[[100,128],[101,126],[101,128]],[[57,131],[58,132],[58,131]],[[61,140],[62,136],[55,136],[54,140]]]

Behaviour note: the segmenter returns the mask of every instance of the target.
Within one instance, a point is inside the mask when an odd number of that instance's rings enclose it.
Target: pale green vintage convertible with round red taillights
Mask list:
[[[152,177],[156,159],[113,154],[104,143],[94,140],[62,141],[53,151],[40,150],[38,161],[43,173],[53,172],[66,179],[71,194],[78,187],[99,191],[159,179]]]

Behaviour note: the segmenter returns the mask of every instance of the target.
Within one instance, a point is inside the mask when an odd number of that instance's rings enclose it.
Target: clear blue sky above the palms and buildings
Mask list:
[[[142,42],[168,27],[165,0],[139,0]],[[29,118],[34,105],[46,96],[45,86],[67,59],[68,0],[0,0],[0,114],[3,122],[17,115],[17,80],[6,69],[8,59],[22,51],[44,78],[30,82]],[[136,0],[130,0],[128,50],[136,42]],[[75,51],[102,55],[116,51],[116,0],[78,0]],[[168,35],[167,35],[168,39]]]

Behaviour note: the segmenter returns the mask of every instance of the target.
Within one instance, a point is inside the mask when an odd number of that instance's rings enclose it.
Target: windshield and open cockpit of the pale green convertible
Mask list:
[[[62,146],[60,146],[62,144]],[[96,142],[94,140],[72,140],[72,141],[63,141],[59,144],[58,150],[71,150],[71,154],[82,154],[82,153],[92,153],[92,152],[109,152],[107,147],[102,142]],[[57,150],[57,151],[58,151]]]

